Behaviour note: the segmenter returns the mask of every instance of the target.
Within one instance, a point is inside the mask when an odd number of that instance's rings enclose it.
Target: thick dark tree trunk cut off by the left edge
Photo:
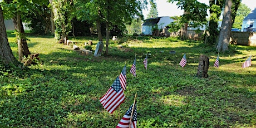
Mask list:
[[[12,50],[9,46],[6,27],[4,26],[3,21],[3,12],[2,7],[0,5],[0,63],[4,65],[13,64],[14,66],[18,66],[18,61],[12,54]]]

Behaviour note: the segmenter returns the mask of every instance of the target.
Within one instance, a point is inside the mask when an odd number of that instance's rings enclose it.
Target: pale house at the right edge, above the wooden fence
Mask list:
[[[256,8],[244,18],[241,32],[256,32]]]

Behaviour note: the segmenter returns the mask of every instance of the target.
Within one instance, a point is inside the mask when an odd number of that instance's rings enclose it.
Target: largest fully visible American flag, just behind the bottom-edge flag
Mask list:
[[[117,76],[112,86],[107,90],[107,93],[100,98],[100,102],[103,107],[112,114],[124,101],[124,90],[122,90],[119,77]]]

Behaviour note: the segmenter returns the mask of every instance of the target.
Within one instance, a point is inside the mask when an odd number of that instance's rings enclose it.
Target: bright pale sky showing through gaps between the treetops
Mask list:
[[[167,0],[156,0],[156,6],[158,11],[158,16],[180,16],[183,14],[183,11],[176,6],[176,3],[168,3]],[[209,0],[198,0],[198,2],[205,3],[209,5]],[[256,1],[255,0],[242,0],[242,3],[244,3],[246,6],[248,6],[251,10],[256,8]],[[147,14],[149,13],[150,6],[147,6],[147,10],[144,10],[142,13],[144,17],[147,17]],[[209,14],[209,13],[208,13]]]

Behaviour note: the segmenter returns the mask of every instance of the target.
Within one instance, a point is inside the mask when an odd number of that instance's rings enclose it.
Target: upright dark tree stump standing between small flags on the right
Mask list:
[[[209,68],[209,58],[205,55],[201,55],[199,58],[199,65],[198,65],[198,73],[196,73],[196,76],[198,77],[208,77],[208,68]]]

